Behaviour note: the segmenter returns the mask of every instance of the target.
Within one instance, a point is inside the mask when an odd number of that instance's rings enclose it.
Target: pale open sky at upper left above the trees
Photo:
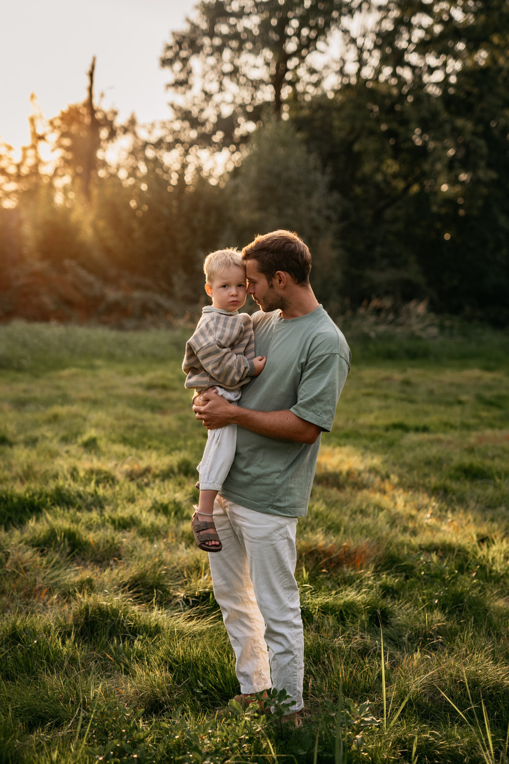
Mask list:
[[[0,137],[15,149],[28,143],[31,92],[43,115],[82,101],[92,56],[95,102],[124,120],[169,116],[159,68],[170,31],[183,28],[196,0],[0,0]]]

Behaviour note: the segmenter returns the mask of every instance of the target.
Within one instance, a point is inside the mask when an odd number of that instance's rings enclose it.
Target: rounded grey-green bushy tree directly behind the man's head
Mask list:
[[[272,120],[256,131],[226,192],[227,228],[221,241],[242,245],[276,228],[296,230],[311,249],[314,289],[337,314],[343,286],[337,237],[342,200],[331,192],[330,173],[293,126]]]

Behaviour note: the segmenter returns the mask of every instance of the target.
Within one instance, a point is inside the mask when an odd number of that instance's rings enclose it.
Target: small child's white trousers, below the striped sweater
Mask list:
[[[218,395],[237,403],[240,390],[224,390],[214,387]],[[200,473],[200,490],[220,490],[235,458],[237,448],[237,425],[226,425],[208,430],[207,444],[196,468]]]

